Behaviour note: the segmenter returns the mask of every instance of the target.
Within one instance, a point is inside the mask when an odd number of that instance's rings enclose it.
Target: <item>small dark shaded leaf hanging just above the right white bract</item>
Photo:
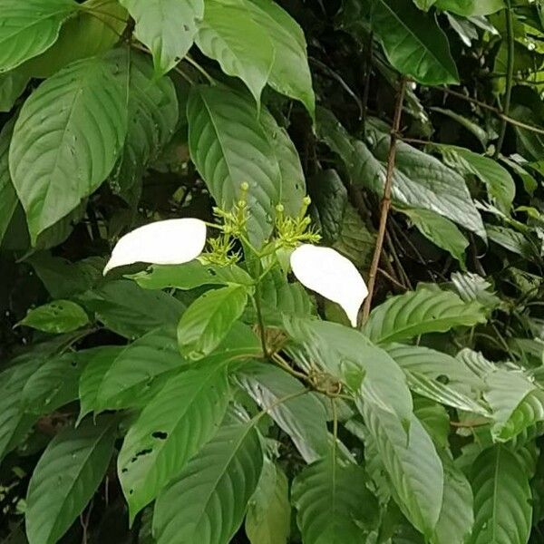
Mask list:
[[[336,170],[321,170],[308,184],[312,216],[325,244],[340,237],[347,207],[347,189]]]

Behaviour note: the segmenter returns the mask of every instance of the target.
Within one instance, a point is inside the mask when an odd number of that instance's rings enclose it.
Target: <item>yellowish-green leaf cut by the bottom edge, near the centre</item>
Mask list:
[[[287,544],[290,531],[287,476],[279,466],[265,458],[257,490],[249,500],[246,534],[251,544]]]

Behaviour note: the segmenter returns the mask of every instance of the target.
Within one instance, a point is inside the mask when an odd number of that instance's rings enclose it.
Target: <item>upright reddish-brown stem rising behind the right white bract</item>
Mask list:
[[[387,173],[385,174],[385,186],[384,186],[384,198],[382,199],[382,210],[380,213],[380,226],[378,228],[378,237],[376,238],[376,246],[374,248],[374,257],[372,258],[372,265],[370,267],[370,274],[368,276],[368,296],[364,301],[363,307],[363,322],[368,319],[370,315],[370,308],[372,306],[372,297],[374,296],[374,285],[376,282],[376,273],[378,271],[378,265],[380,263],[380,257],[382,257],[382,248],[384,247],[385,228],[387,227],[387,216],[389,215],[389,209],[391,208],[391,189],[393,188],[393,173],[394,173],[394,160],[396,156],[396,142],[398,140],[398,133],[401,129],[401,117],[403,115],[403,102],[404,91],[406,89],[406,80],[403,78],[397,94],[397,100],[394,107],[393,115],[393,127],[391,130],[391,141],[389,144],[389,155],[387,157]]]

